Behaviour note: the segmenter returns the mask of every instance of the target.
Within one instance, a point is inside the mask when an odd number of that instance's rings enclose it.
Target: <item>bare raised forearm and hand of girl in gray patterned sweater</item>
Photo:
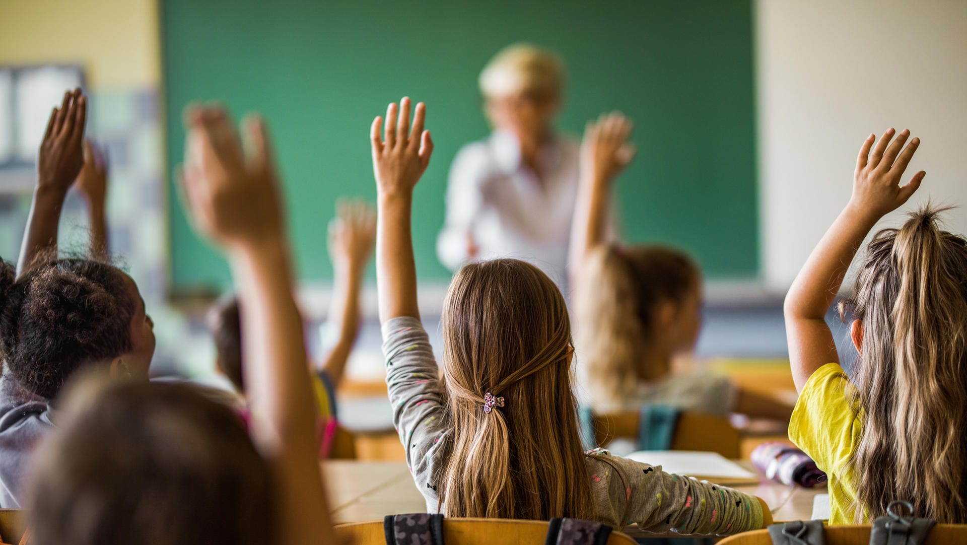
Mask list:
[[[396,115],[399,114],[399,125]],[[386,134],[381,137],[383,118],[372,122],[372,170],[376,176],[378,210],[376,221],[376,288],[379,292],[379,320],[399,316],[420,317],[417,305],[417,271],[413,261],[410,216],[413,188],[429,164],[433,141],[424,130],[426,106],[417,104],[410,129],[410,100],[404,98],[386,110]]]

